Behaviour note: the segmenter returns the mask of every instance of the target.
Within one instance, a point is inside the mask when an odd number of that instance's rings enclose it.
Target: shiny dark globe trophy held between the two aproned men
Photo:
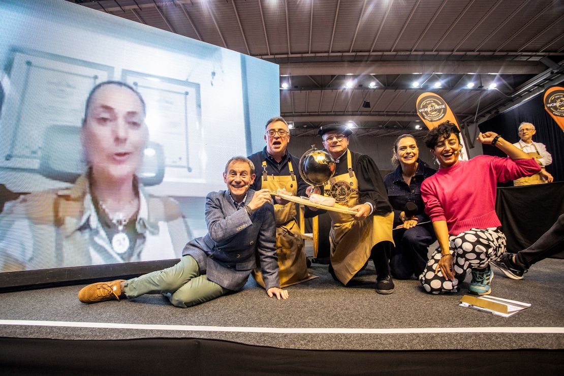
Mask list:
[[[336,163],[331,154],[318,150],[315,145],[299,158],[299,175],[314,187],[324,185],[335,174]]]

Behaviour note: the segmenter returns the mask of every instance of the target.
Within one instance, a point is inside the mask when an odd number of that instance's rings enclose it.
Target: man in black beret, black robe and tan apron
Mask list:
[[[394,213],[376,163],[368,156],[349,150],[351,133],[340,124],[319,129],[325,150],[337,162],[335,174],[324,185],[323,194],[333,197],[337,204],[358,211],[356,215],[328,212],[332,222],[329,272],[346,285],[372,259],[377,273],[376,292],[391,294],[394,282],[384,242],[394,242],[391,232]]]

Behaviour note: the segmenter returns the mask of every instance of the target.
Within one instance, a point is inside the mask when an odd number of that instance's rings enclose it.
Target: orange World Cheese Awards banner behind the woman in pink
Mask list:
[[[456,127],[460,130],[455,114],[452,113],[451,108],[448,107],[448,104],[440,95],[433,92],[424,92],[417,98],[416,109],[417,115],[421,118],[429,130],[437,127],[440,123],[447,120],[456,124]],[[464,151],[464,153],[460,156],[460,160],[468,161],[469,153],[462,133],[460,134],[460,143],[462,144],[462,150]]]

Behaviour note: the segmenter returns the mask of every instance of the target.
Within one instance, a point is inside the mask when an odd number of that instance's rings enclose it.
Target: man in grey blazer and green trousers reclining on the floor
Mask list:
[[[190,307],[240,290],[257,265],[257,255],[268,296],[288,299],[288,291],[279,288],[270,194],[249,189],[254,178],[253,162],[231,158],[223,172],[228,189],[206,197],[208,235],[188,242],[178,264],[127,281],[88,285],[78,299],[96,303],[161,293],[176,307]]]

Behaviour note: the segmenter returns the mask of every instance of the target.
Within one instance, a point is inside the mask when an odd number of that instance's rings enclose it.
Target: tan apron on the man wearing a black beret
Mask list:
[[[345,174],[333,176],[324,186],[324,195],[333,197],[337,204],[353,207],[359,205],[358,180],[351,167],[351,153],[347,149]],[[366,219],[354,220],[351,214],[329,211],[331,216],[331,264],[338,280],[347,284],[364,266],[371,255],[372,247],[381,241],[394,242],[391,230],[394,213],[369,215]]]

